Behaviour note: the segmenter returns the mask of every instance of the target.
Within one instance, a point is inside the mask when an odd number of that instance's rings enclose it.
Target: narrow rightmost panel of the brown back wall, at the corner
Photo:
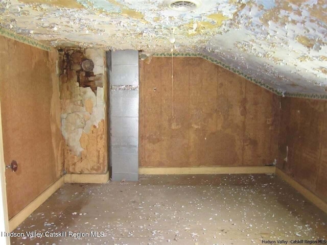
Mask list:
[[[269,99],[267,99],[269,98]],[[244,129],[244,165],[256,159],[256,164],[264,165],[277,160],[279,127],[279,99],[259,86],[247,84],[245,110],[248,112]],[[272,133],[271,133],[272,132]],[[274,156],[274,159],[271,157]]]

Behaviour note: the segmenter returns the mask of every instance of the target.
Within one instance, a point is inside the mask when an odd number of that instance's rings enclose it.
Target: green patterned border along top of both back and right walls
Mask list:
[[[154,54],[153,56],[155,57],[171,57],[172,54],[171,53],[158,53],[158,54]],[[285,97],[297,97],[297,98],[303,98],[303,99],[314,99],[314,100],[327,100],[327,94],[315,94],[315,93],[290,93],[290,92],[285,92],[283,93],[281,90],[279,89],[275,89],[267,84],[265,84],[263,81],[259,81],[257,79],[252,78],[251,76],[244,74],[242,71],[230,67],[229,65],[224,64],[223,62],[207,56],[207,55],[203,55],[201,53],[176,53],[174,54],[174,57],[198,57],[198,58],[202,58],[205,59],[207,61],[210,61],[216,65],[219,65],[249,81],[251,81],[252,83],[255,83],[256,85],[259,85],[260,87],[263,87],[267,90],[269,90],[270,92],[273,92],[277,95],[280,96],[285,96]]]

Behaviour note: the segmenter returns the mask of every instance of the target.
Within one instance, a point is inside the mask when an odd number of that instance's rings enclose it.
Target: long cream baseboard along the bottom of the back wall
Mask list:
[[[140,175],[274,174],[275,166],[139,167]]]

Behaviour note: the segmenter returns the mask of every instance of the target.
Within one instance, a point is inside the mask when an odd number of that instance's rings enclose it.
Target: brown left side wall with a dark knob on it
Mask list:
[[[60,178],[57,52],[0,36],[0,99],[9,217]]]

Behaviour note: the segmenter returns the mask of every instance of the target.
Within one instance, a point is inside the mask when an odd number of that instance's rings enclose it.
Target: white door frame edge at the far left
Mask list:
[[[2,137],[1,101],[0,101],[0,243],[10,245],[10,237],[4,236],[3,232],[9,233],[9,217],[6,191],[6,164],[4,160],[4,144]]]

